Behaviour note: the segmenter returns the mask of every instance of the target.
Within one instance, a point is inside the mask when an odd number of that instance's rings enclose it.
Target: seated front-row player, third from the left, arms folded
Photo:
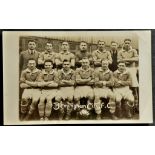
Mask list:
[[[66,113],[65,120],[69,120],[73,110],[75,73],[70,68],[70,62],[68,60],[63,61],[63,68],[58,71],[58,78],[60,89],[55,100],[59,103],[59,119],[63,119]]]

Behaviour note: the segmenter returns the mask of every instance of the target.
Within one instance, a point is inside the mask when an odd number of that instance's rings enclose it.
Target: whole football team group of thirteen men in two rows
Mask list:
[[[90,52],[82,41],[72,53],[63,41],[56,53],[52,42],[38,52],[29,40],[20,53],[20,119],[33,120],[36,111],[40,120],[53,120],[55,112],[59,120],[132,119],[139,108],[138,53],[131,44],[124,39],[118,50],[112,41],[107,50],[99,40]]]

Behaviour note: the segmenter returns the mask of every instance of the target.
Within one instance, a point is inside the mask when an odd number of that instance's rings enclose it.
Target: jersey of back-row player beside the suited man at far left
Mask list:
[[[39,59],[41,59],[42,61],[51,60],[54,63],[55,62],[55,56],[56,56],[55,52],[49,53],[48,51],[44,51],[39,55]]]

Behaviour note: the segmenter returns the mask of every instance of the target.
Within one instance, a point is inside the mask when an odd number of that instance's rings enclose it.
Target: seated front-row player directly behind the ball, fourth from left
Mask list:
[[[94,70],[90,68],[88,58],[83,58],[81,64],[82,66],[76,69],[76,88],[74,91],[77,116],[80,114],[80,99],[88,99],[86,104],[86,110],[88,111],[91,110],[94,100],[94,91],[92,88],[94,85]]]

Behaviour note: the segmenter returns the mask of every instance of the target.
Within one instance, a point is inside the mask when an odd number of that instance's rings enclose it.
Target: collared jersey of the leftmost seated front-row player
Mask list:
[[[33,71],[29,70],[28,68],[23,70],[20,77],[20,82],[31,81],[39,81],[39,75],[41,71],[37,68],[35,68]]]

